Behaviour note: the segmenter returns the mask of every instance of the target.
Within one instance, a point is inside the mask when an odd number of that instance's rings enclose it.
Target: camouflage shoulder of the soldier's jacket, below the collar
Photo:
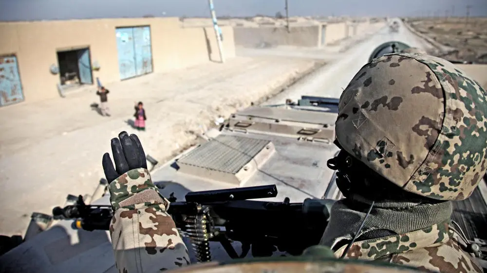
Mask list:
[[[463,251],[453,238],[439,246],[395,254],[391,262],[431,272],[483,273],[474,258]]]

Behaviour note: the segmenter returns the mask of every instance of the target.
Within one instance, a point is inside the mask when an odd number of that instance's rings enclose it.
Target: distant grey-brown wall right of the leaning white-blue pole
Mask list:
[[[300,26],[290,28],[290,33],[285,27],[257,27],[234,28],[235,45],[243,47],[265,46],[300,46],[317,47],[319,45],[320,26]]]

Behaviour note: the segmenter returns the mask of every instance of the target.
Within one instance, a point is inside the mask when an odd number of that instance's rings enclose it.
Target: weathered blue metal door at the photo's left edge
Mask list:
[[[0,95],[0,106],[24,100],[15,56],[0,57]]]

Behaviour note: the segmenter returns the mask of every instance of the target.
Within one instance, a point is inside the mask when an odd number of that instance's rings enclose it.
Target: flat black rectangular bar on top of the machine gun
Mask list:
[[[186,202],[207,203],[225,202],[234,200],[247,200],[269,198],[277,196],[276,185],[266,185],[246,188],[227,188],[189,192],[186,194]]]

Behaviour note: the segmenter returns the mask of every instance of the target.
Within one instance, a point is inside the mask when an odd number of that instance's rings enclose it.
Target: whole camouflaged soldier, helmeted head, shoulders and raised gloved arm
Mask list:
[[[365,65],[340,97],[341,151],[328,166],[346,198],[333,205],[320,244],[337,257],[482,272],[451,225],[450,201],[468,198],[486,171],[485,100],[477,82],[440,58],[393,53]],[[112,139],[115,168],[103,155],[118,270],[189,264],[140,141],[126,132],[119,139]]]

